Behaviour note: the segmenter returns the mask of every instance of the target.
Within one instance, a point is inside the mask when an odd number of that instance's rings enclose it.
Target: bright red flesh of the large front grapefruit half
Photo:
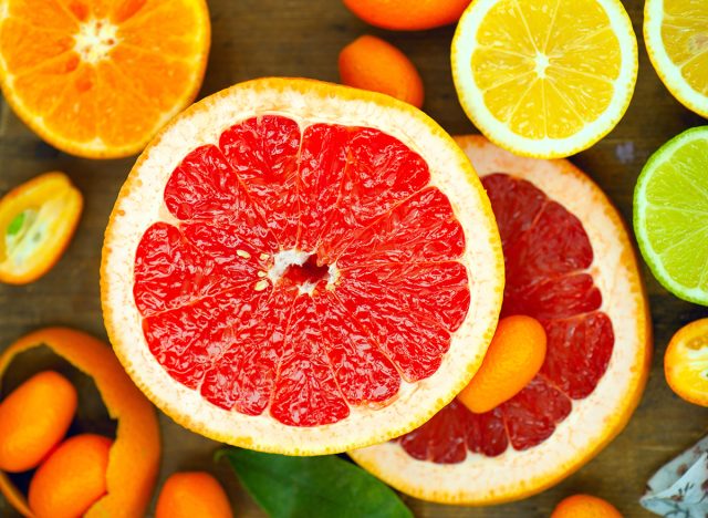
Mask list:
[[[469,309],[465,234],[429,182],[417,153],[374,128],[301,135],[275,115],[231,126],[175,169],[165,204],[179,222],[138,246],[150,351],[215,405],[270,407],[288,425],[385,404],[402,377],[437,370]],[[299,256],[278,277],[280,250]]]

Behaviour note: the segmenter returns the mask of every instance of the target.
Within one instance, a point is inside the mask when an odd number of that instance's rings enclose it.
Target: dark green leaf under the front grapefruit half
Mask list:
[[[223,448],[241,484],[273,518],[412,518],[396,493],[334,455],[287,457]]]

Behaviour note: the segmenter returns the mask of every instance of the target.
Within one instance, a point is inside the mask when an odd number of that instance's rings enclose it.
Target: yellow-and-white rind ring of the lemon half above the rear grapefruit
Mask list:
[[[566,138],[528,138],[512,132],[494,117],[485,104],[470,64],[477,41],[476,34],[489,10],[499,0],[476,0],[460,18],[452,42],[452,76],[458,97],[472,123],[489,138],[517,154],[535,157],[564,157],[592,146],[620,122],[624,114],[637,76],[637,40],[632,21],[618,0],[596,0],[607,13],[612,31],[617,35],[622,53],[622,66],[615,81],[615,93],[607,110],[582,131]],[[545,71],[543,61],[537,56],[537,71]]]

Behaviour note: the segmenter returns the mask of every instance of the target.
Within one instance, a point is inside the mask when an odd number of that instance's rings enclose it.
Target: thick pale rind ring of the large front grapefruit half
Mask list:
[[[133,299],[135,252],[155,221],[174,220],[162,196],[191,149],[216,143],[232,124],[281,114],[301,125],[331,123],[378,128],[427,160],[431,182],[448,196],[467,236],[460,258],[471,282],[470,309],[452,334],[438,371],[402,382],[379,410],[351,407],[347,418],[317,427],[288,427],[268,413],[249,416],[207,403],[175,381],[148,350]],[[503,256],[489,199],[452,138],[417,108],[387,95],[312,80],[262,79],[240,83],[196,103],[173,120],[144,151],[118,195],[106,229],[101,267],[103,313],[115,352],[134,382],[180,425],[215,441],[270,453],[325,455],[403,435],[429,419],[479,369],[497,325],[503,296]]]

